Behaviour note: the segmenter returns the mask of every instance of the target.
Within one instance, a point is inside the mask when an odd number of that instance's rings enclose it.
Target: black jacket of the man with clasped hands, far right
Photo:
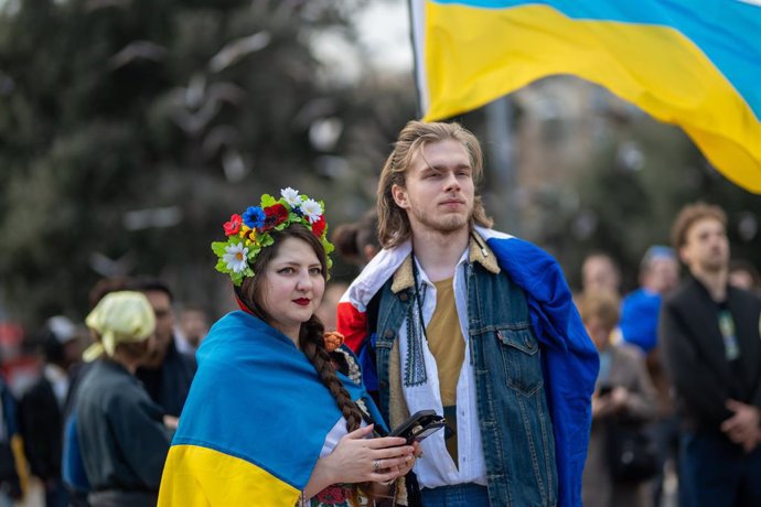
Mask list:
[[[727,309],[740,347],[736,365],[726,358],[719,305],[698,280],[685,280],[661,309],[663,362],[676,390],[677,413],[693,430],[718,431],[732,416],[725,407],[730,398],[761,408],[761,299],[730,287]]]

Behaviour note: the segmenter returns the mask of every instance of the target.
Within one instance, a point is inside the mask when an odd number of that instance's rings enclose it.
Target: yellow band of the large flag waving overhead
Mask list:
[[[544,76],[572,74],[680,126],[725,176],[761,193],[761,122],[679,31],[571,19],[537,4],[424,6],[417,52],[426,120],[481,107]]]

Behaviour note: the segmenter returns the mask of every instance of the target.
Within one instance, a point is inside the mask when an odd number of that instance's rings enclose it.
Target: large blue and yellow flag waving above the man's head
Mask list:
[[[761,0],[410,0],[425,119],[553,75],[680,126],[761,193]]]

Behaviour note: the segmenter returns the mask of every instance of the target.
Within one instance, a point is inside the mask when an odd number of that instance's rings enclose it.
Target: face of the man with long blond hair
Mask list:
[[[424,145],[407,168],[405,186],[394,185],[392,193],[414,233],[448,235],[468,228],[475,187],[465,147],[454,140]]]

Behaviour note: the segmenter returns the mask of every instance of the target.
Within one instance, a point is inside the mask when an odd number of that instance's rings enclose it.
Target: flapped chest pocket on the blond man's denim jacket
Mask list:
[[[530,327],[499,328],[502,360],[507,386],[524,396],[532,396],[544,385],[539,344]]]

